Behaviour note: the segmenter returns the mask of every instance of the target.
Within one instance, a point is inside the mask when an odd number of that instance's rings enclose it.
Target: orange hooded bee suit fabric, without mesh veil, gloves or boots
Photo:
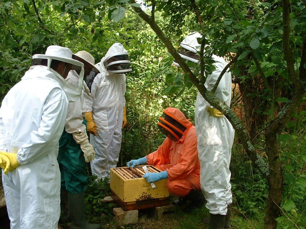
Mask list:
[[[180,140],[174,142],[167,137],[155,152],[147,155],[147,164],[167,170],[169,192],[185,196],[191,189],[201,189],[196,128],[177,108],[167,108],[167,111],[188,127]]]

